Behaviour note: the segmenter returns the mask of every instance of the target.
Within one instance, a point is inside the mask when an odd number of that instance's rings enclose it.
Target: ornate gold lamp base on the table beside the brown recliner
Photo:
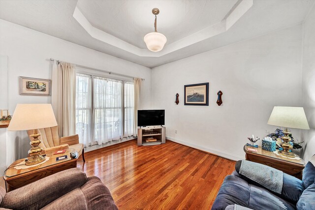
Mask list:
[[[31,149],[29,150],[30,158],[29,160],[25,163],[25,165],[34,165],[40,162],[43,162],[45,160],[45,157],[41,156],[41,151],[42,149],[39,147],[40,144],[40,139],[38,137],[40,134],[37,133],[37,129],[34,129],[34,132],[30,137],[34,138],[31,142]]]

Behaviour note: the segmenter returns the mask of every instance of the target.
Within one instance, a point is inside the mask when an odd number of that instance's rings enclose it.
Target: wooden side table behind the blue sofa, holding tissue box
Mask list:
[[[262,150],[260,146],[253,148],[257,149],[257,152],[249,151],[248,148],[253,147],[244,146],[246,160],[273,167],[302,180],[302,171],[304,169],[304,160],[302,158],[299,160],[286,158],[272,151]]]

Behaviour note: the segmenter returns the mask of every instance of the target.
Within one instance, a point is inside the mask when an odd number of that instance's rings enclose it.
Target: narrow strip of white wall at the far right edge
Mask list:
[[[315,154],[315,6],[304,23],[302,79],[303,106],[310,125],[310,130],[302,132],[304,159],[308,160]]]

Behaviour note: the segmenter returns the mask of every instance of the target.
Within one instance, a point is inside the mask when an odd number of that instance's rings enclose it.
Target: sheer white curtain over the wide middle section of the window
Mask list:
[[[94,77],[93,140],[104,144],[119,140],[123,134],[123,82]]]

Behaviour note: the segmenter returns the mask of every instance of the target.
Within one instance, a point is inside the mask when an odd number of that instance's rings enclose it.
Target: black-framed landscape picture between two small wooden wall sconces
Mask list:
[[[209,83],[185,85],[184,105],[209,106]]]

